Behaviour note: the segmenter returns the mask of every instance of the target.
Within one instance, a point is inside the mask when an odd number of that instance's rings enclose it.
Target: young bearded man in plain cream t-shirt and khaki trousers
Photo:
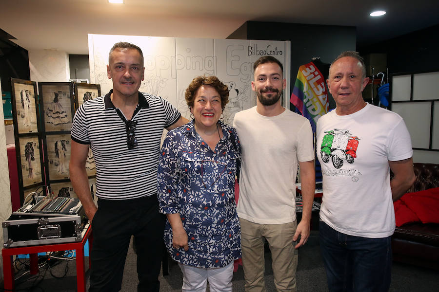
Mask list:
[[[257,106],[235,115],[242,149],[238,216],[245,291],[263,292],[264,242],[268,241],[277,291],[297,291],[297,248],[310,233],[315,189],[313,133],[309,121],[281,105],[282,64],[263,56],[254,64]],[[296,219],[300,165],[303,213]],[[298,240],[300,236],[300,240]]]

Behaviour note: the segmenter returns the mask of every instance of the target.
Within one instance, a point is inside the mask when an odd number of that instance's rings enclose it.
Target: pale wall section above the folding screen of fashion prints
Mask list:
[[[29,69],[32,81],[68,82],[69,55],[65,51],[29,51]]]

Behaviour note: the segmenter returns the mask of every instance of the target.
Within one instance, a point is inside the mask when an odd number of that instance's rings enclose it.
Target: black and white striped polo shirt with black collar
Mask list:
[[[87,101],[75,113],[72,140],[90,144],[97,170],[96,195],[125,200],[157,194],[157,168],[163,128],[176,123],[180,113],[160,96],[139,92],[132,121],[137,121],[138,146],[128,149],[125,118],[107,95]]]

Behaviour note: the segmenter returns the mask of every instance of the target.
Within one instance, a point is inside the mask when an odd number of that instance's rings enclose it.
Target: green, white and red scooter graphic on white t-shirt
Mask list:
[[[357,148],[359,138],[351,136],[349,130],[334,129],[325,131],[327,133],[320,146],[320,156],[324,163],[328,163],[329,159],[335,168],[341,168],[343,161],[353,164],[357,157]]]

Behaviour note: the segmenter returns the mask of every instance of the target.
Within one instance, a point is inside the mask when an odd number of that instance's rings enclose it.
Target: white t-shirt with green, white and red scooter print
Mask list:
[[[316,147],[323,174],[320,219],[348,235],[391,236],[395,213],[388,161],[413,155],[402,118],[370,104],[350,115],[333,110],[317,123]]]

